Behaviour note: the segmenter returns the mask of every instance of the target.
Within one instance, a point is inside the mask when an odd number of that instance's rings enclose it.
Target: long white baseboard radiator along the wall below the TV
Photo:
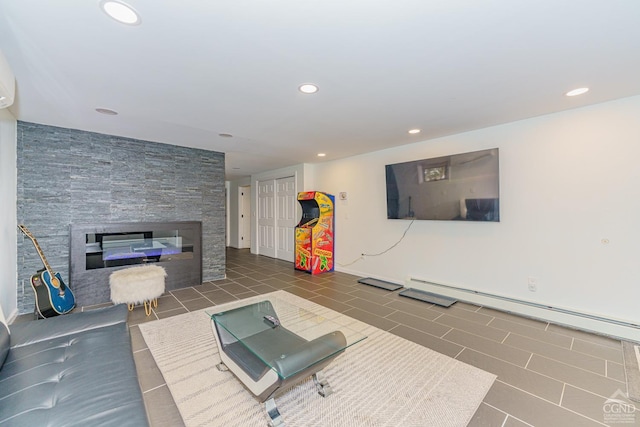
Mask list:
[[[562,307],[552,307],[474,289],[434,283],[415,277],[408,277],[405,280],[405,288],[432,292],[460,301],[516,313],[525,317],[592,331],[610,337],[640,342],[640,325],[624,320],[606,318],[596,314],[574,311]]]

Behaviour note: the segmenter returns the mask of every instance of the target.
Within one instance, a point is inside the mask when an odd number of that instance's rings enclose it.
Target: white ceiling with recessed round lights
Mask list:
[[[0,0],[14,116],[222,151],[233,179],[640,94],[638,0],[127,3],[141,25]]]

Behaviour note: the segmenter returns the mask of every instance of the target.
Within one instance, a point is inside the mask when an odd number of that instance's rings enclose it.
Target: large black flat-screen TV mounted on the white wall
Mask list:
[[[500,221],[498,149],[386,165],[387,218]]]

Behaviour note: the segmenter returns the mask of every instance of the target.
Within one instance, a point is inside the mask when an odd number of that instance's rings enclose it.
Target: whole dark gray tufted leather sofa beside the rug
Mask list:
[[[148,426],[126,305],[0,322],[4,425]]]

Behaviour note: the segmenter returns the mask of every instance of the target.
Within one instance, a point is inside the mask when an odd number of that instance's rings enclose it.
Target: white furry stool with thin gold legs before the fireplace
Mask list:
[[[144,304],[144,312],[151,314],[151,303],[158,307],[158,297],[164,293],[167,273],[157,265],[145,265],[114,271],[109,276],[111,301],[127,304],[129,311],[135,304]]]

